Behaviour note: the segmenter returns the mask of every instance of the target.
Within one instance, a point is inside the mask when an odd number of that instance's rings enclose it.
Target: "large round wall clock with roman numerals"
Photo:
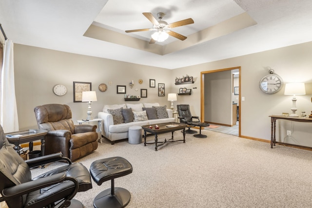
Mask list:
[[[262,92],[267,94],[274,94],[282,89],[283,79],[280,76],[273,73],[274,70],[270,69],[269,75],[263,76],[260,79],[259,87]]]

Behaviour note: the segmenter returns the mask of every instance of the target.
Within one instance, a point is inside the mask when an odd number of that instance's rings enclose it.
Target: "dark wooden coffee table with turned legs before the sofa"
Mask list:
[[[159,146],[167,142],[183,141],[183,143],[185,143],[185,128],[187,127],[187,124],[175,123],[175,122],[157,124],[159,126],[159,129],[155,129],[155,125],[156,124],[142,126],[142,129],[144,130],[144,146],[146,146],[146,144],[155,144],[155,151],[157,151],[157,148]],[[152,126],[152,128],[149,128],[150,126]],[[174,132],[177,130],[183,130],[183,139],[174,140]],[[149,132],[155,135],[155,142],[146,142],[146,132]],[[163,142],[158,142],[158,134],[167,133],[167,132],[172,132],[171,139],[168,139],[168,140],[165,139],[165,141]]]

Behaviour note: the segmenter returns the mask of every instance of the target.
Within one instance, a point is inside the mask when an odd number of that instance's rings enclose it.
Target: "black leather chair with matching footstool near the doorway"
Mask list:
[[[190,111],[190,105],[176,105],[177,107],[177,113],[178,118],[180,119],[180,123],[185,123],[188,125],[188,130],[185,131],[185,133],[192,133],[195,137],[198,138],[206,138],[207,135],[201,134],[201,127],[207,127],[209,126],[208,123],[202,123],[199,120],[198,116],[192,116],[192,113]],[[193,119],[197,119],[194,121]],[[191,127],[199,126],[199,134],[195,130],[191,130]]]

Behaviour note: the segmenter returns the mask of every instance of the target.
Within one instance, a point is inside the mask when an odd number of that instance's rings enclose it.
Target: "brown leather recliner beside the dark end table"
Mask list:
[[[34,111],[39,129],[49,131],[45,137],[45,155],[61,151],[74,161],[98,148],[97,126],[74,125],[68,105],[46,104]]]

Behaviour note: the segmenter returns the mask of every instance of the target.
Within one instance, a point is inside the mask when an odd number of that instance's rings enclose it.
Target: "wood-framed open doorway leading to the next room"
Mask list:
[[[238,73],[238,77],[236,78],[238,79],[238,81],[234,81],[233,72]],[[202,122],[206,121],[208,123],[220,125],[225,128],[237,129],[238,126],[238,136],[240,137],[241,67],[239,66],[225,69],[217,69],[212,71],[205,71],[201,72],[200,75],[201,75],[200,115]],[[234,109],[233,102],[238,104],[237,109]],[[234,116],[236,115],[235,111],[239,112],[239,119],[237,122],[238,125],[235,125],[236,123],[234,121]],[[218,132],[217,129],[214,129],[214,131]]]

